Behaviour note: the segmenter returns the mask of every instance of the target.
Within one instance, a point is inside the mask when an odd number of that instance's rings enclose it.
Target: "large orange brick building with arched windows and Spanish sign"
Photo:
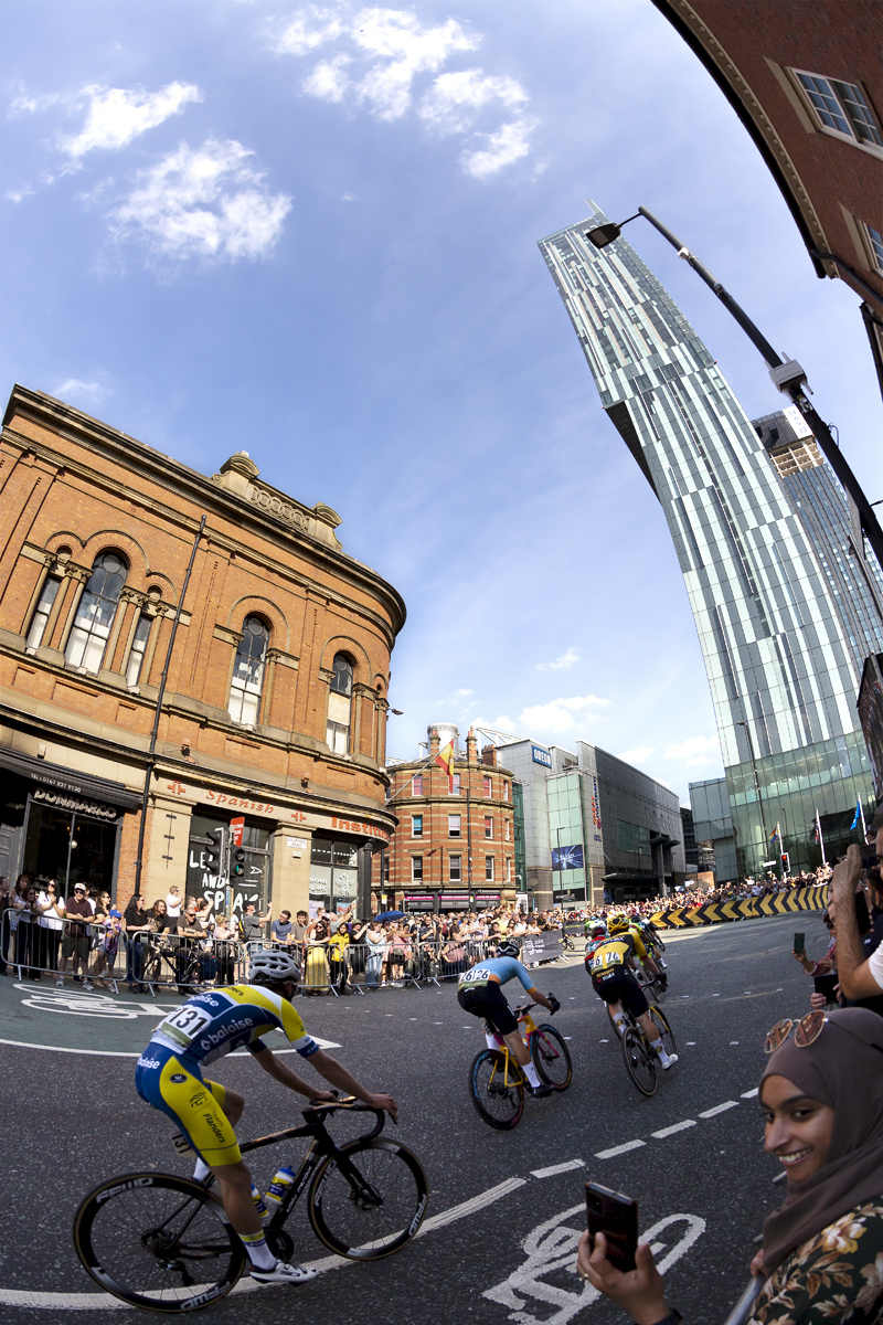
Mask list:
[[[340,517],[246,452],[207,477],[23,387],[0,493],[0,873],[275,914],[367,900],[405,606]],[[228,890],[205,835],[233,818]]]

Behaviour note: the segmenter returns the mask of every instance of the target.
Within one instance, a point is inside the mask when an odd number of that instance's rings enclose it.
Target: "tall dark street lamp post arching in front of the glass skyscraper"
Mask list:
[[[608,221],[605,225],[596,225],[593,229],[586,231],[585,236],[592,244],[594,244],[596,248],[606,248],[608,244],[613,244],[614,240],[620,238],[622,227],[627,225],[629,221],[637,220],[638,216],[643,216],[645,220],[650,221],[650,224],[659,231],[662,237],[678,250],[678,257],[684,258],[694,272],[702,277],[706,285],[714,290],[723,306],[733,315],[752,344],[760,350],[760,354],[769,368],[773,384],[782,392],[782,395],[786,395],[792,403],[797,405],[800,412],[806,419],[806,423],[821,447],[825,458],[843,485],[849,496],[850,505],[855,509],[855,514],[864,537],[874,549],[878,562],[883,566],[883,530],[880,529],[871,504],[862,492],[855,474],[834,441],[830,428],[809,403],[806,398],[806,391],[809,391],[806,374],[801,368],[800,363],[794,359],[782,360],[776,354],[769,341],[763,335],[759,327],[755,326],[744,309],[736,303],[728,290],[723,288],[720,281],[718,281],[716,277],[711,274],[708,268],[703,266],[699,258],[695,257],[690,249],[682,244],[680,240],[673,235],[661,220],[658,220],[658,217],[653,215],[653,212],[649,212],[646,207],[639,207],[634,216],[629,216],[627,220],[621,221],[620,224],[616,221]],[[863,554],[863,549],[859,547],[858,553]]]

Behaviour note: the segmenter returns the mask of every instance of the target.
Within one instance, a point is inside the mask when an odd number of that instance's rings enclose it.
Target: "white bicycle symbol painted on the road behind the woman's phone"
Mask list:
[[[577,1226],[576,1228],[571,1228],[565,1223],[572,1215],[582,1216],[573,1220]],[[680,1240],[659,1261],[659,1273],[665,1273],[666,1269],[674,1265],[692,1247],[696,1239],[706,1231],[706,1220],[699,1219],[696,1215],[669,1215],[666,1219],[655,1223],[653,1228],[647,1228],[641,1239],[650,1243],[654,1243],[655,1239],[654,1255],[658,1255],[659,1251],[665,1251],[669,1242],[669,1239],[659,1240],[659,1235],[671,1224],[676,1224],[680,1220],[687,1227]],[[527,1256],[524,1264],[512,1271],[502,1284],[486,1289],[482,1296],[487,1297],[491,1302],[499,1302],[500,1306],[508,1306],[508,1318],[518,1322],[518,1325],[567,1325],[584,1306],[590,1306],[601,1295],[597,1288],[592,1288],[588,1283],[580,1284],[577,1291],[572,1292],[569,1288],[559,1288],[556,1284],[544,1283],[544,1280],[556,1271],[576,1276],[576,1246],[580,1240],[584,1223],[584,1202],[580,1202],[579,1206],[571,1206],[569,1210],[563,1210],[560,1215],[555,1215],[552,1219],[543,1220],[541,1224],[531,1230],[522,1243]],[[528,1310],[524,1310],[527,1306],[526,1298],[528,1297],[549,1306],[556,1306],[557,1310],[552,1316],[543,1316],[543,1320],[539,1320]]]

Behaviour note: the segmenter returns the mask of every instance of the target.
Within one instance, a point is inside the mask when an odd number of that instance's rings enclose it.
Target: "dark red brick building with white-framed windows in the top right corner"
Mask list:
[[[769,167],[819,277],[860,313],[883,390],[883,7],[653,0]]]

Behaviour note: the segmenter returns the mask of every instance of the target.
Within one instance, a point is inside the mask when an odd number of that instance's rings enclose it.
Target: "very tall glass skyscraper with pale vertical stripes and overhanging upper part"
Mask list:
[[[605,220],[539,246],[675,545],[725,770],[733,836],[715,841],[719,876],[760,869],[777,823],[792,867],[810,864],[815,810],[842,815],[859,794],[874,799],[849,627],[793,497],[702,341],[624,238],[604,250],[585,238]],[[694,816],[704,840],[695,806]]]

